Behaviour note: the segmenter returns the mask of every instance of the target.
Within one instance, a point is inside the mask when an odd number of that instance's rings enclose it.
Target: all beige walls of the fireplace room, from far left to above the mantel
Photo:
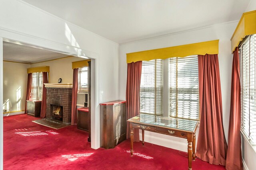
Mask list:
[[[27,90],[27,68],[50,66],[50,82],[57,83],[62,78],[62,83],[73,82],[72,62],[84,60],[79,57],[66,57],[36,64],[3,63],[3,99],[7,103],[7,111],[25,110]],[[20,88],[20,89],[19,89]],[[18,91],[17,91],[18,90]],[[20,103],[20,104],[19,104]]]

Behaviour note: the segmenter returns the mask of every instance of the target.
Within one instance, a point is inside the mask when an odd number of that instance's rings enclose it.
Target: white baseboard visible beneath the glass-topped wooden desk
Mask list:
[[[140,139],[142,139],[142,134],[140,133]],[[169,139],[163,139],[159,137],[154,137],[151,135],[144,135],[144,141],[148,143],[152,143],[155,145],[160,145],[163,147],[168,147],[176,150],[180,150],[183,152],[188,152],[188,144],[187,143],[181,143],[177,141],[172,141]]]

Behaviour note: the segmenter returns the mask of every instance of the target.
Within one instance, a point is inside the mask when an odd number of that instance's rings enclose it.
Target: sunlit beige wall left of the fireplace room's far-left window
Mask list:
[[[30,64],[3,62],[3,102],[7,111],[25,109],[29,67]]]

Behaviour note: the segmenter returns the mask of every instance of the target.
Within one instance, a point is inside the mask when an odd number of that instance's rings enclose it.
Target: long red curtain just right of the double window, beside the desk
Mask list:
[[[196,156],[210,164],[226,164],[218,55],[198,55],[200,128]]]

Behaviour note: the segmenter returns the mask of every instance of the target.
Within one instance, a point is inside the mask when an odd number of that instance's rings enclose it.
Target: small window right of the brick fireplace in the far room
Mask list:
[[[78,68],[78,91],[88,91],[88,67]]]

